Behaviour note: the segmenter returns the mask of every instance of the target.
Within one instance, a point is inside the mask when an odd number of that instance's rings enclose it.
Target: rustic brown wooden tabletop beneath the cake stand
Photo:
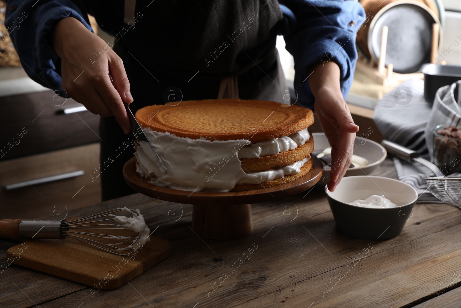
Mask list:
[[[396,173],[386,159],[372,175]],[[196,236],[191,205],[181,205],[181,216],[180,205],[141,194],[71,216],[124,205],[141,209],[151,229],[158,227],[154,235],[171,241],[170,257],[98,293],[13,264],[0,273],[0,307],[461,306],[461,211],[450,205],[417,204],[400,236],[372,242],[338,232],[317,188],[252,205],[253,232],[231,241]],[[0,242],[1,260],[12,245]]]

